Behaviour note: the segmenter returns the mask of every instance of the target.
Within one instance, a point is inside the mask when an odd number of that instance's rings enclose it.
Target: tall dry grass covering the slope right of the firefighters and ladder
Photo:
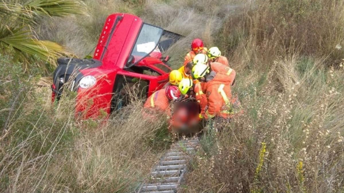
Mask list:
[[[224,22],[216,42],[245,114],[202,138],[184,192],[343,191],[343,13],[255,1]]]

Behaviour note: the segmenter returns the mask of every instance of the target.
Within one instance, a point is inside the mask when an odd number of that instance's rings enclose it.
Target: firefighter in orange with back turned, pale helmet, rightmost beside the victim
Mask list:
[[[222,64],[221,64],[222,65]],[[196,64],[192,69],[194,78],[205,77],[201,85],[202,92],[206,94],[207,109],[203,106],[204,114],[200,118],[209,119],[215,116],[228,119],[233,116],[231,80],[225,73],[216,73],[204,64]],[[232,72],[235,72],[232,70]],[[231,72],[231,73],[232,73]]]

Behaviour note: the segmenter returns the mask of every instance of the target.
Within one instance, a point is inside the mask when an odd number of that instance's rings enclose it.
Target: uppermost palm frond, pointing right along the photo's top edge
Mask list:
[[[39,14],[57,17],[86,14],[86,5],[80,0],[30,0],[24,7]]]

